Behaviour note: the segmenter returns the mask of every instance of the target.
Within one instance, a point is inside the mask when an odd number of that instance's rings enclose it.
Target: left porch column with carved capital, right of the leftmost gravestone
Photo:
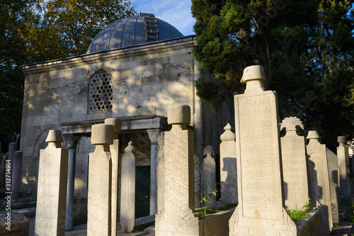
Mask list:
[[[72,216],[72,205],[74,204],[74,182],[76,146],[79,136],[64,136],[66,147],[69,149],[68,175],[67,175],[67,210],[65,216],[65,231],[71,231],[74,216]]]

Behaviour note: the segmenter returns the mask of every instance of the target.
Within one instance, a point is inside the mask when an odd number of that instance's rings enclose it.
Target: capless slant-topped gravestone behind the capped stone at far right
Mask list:
[[[339,178],[338,158],[329,148],[326,148],[327,163],[329,166],[329,189],[331,189],[331,212],[333,223],[339,223]]]

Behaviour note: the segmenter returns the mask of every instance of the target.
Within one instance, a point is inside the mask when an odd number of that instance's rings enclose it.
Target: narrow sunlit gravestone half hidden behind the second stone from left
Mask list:
[[[117,235],[117,218],[118,218],[118,155],[119,155],[119,139],[118,134],[122,128],[122,121],[117,118],[105,119],[105,124],[111,124],[114,126],[114,140],[110,145],[110,158],[112,158],[112,236]]]

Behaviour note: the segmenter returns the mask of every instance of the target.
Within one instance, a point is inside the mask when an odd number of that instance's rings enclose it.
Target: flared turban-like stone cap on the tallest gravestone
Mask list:
[[[265,73],[262,66],[248,66],[244,69],[241,83],[246,83],[245,93],[260,93],[264,90]]]

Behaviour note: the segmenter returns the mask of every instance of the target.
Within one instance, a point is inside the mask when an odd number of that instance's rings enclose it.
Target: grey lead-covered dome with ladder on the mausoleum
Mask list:
[[[92,40],[87,54],[183,37],[173,25],[148,13],[111,23]]]

